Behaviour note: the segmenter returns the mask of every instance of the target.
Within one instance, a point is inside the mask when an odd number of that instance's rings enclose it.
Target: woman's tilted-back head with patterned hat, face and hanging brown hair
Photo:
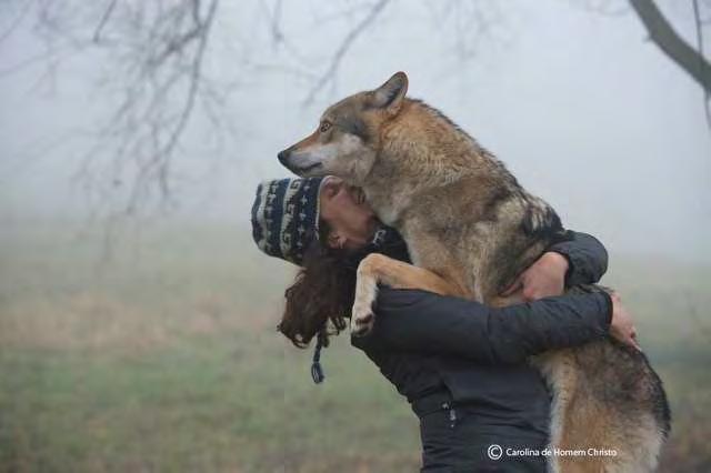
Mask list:
[[[259,185],[252,235],[264,253],[301,266],[286,292],[279,330],[303,348],[327,322],[347,326],[356,269],[378,227],[362,194],[337,178],[281,179]]]

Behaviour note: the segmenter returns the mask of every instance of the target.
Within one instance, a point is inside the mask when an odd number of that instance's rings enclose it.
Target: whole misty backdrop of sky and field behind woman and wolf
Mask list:
[[[711,50],[711,2],[652,3]],[[347,334],[314,386],[276,332],[296,268],[249,223],[277,153],[399,70],[603,242],[672,404],[660,471],[709,471],[710,102],[631,3],[4,0],[0,472],[417,470]]]

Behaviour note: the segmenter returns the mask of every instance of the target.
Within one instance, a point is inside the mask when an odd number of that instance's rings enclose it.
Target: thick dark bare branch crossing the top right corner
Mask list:
[[[654,44],[691,76],[705,93],[711,93],[711,63],[674,31],[653,0],[630,0],[630,3]]]

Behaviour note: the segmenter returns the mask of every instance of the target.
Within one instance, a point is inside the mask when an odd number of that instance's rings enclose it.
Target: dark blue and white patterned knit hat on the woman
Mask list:
[[[318,239],[323,179],[276,179],[259,184],[252,205],[252,238],[260,250],[301,265],[303,252]]]

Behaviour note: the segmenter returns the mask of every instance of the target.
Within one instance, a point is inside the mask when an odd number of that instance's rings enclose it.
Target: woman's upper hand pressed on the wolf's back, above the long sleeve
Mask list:
[[[525,301],[561,295],[565,289],[568,260],[560,253],[549,251],[535,260],[501,295],[508,296],[522,290]]]

